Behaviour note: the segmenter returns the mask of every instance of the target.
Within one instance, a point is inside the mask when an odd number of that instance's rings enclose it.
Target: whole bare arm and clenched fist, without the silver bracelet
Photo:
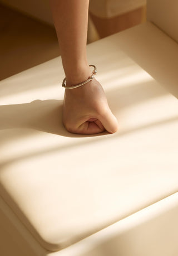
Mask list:
[[[89,0],[51,0],[51,9],[61,50],[66,86],[87,80],[87,23]],[[93,79],[75,89],[65,89],[63,124],[78,134],[114,133],[118,123],[108,107],[101,84]]]

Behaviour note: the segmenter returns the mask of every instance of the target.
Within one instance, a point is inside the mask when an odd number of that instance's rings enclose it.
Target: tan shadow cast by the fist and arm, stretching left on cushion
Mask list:
[[[83,135],[67,132],[62,124],[62,108],[63,100],[34,100],[31,103],[1,105],[0,130],[31,128],[65,137],[93,137],[105,134]]]

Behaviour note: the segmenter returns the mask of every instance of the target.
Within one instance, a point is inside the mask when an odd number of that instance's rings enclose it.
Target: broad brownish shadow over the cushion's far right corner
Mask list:
[[[119,49],[178,98],[176,42],[151,23],[133,27],[130,33],[121,32],[120,35]]]

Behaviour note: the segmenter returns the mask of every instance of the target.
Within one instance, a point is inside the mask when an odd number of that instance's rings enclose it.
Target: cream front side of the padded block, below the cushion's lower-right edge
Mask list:
[[[178,193],[47,256],[177,256],[177,215]]]

